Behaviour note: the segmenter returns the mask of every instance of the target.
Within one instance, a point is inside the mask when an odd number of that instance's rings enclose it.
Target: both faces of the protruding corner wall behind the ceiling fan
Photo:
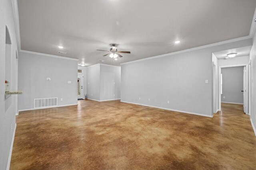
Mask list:
[[[95,64],[87,67],[88,99],[104,101],[120,99],[121,67]]]

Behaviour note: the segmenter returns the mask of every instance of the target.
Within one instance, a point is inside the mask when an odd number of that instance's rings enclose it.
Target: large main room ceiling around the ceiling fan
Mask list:
[[[247,36],[255,8],[256,0],[18,0],[21,49],[119,65]],[[112,43],[131,54],[113,61],[96,51]]]

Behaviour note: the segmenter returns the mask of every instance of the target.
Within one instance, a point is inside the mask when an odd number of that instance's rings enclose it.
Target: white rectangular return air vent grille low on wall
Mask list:
[[[34,108],[46,108],[58,105],[58,98],[34,99]]]

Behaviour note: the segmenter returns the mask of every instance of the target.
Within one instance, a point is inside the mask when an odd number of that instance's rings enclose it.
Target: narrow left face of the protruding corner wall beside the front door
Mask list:
[[[100,100],[100,64],[87,67],[88,99]]]

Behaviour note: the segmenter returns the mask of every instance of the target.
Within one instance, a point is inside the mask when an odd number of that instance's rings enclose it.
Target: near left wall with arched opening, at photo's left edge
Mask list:
[[[16,123],[16,95],[5,99],[6,66],[10,75],[10,90],[17,89],[17,63],[16,51],[18,51],[14,13],[11,0],[1,0],[0,3],[0,169],[9,167],[8,158],[12,147],[14,129]],[[11,45],[6,51],[6,27],[10,33]],[[10,58],[7,60],[6,53]],[[8,62],[8,63],[6,63]]]

